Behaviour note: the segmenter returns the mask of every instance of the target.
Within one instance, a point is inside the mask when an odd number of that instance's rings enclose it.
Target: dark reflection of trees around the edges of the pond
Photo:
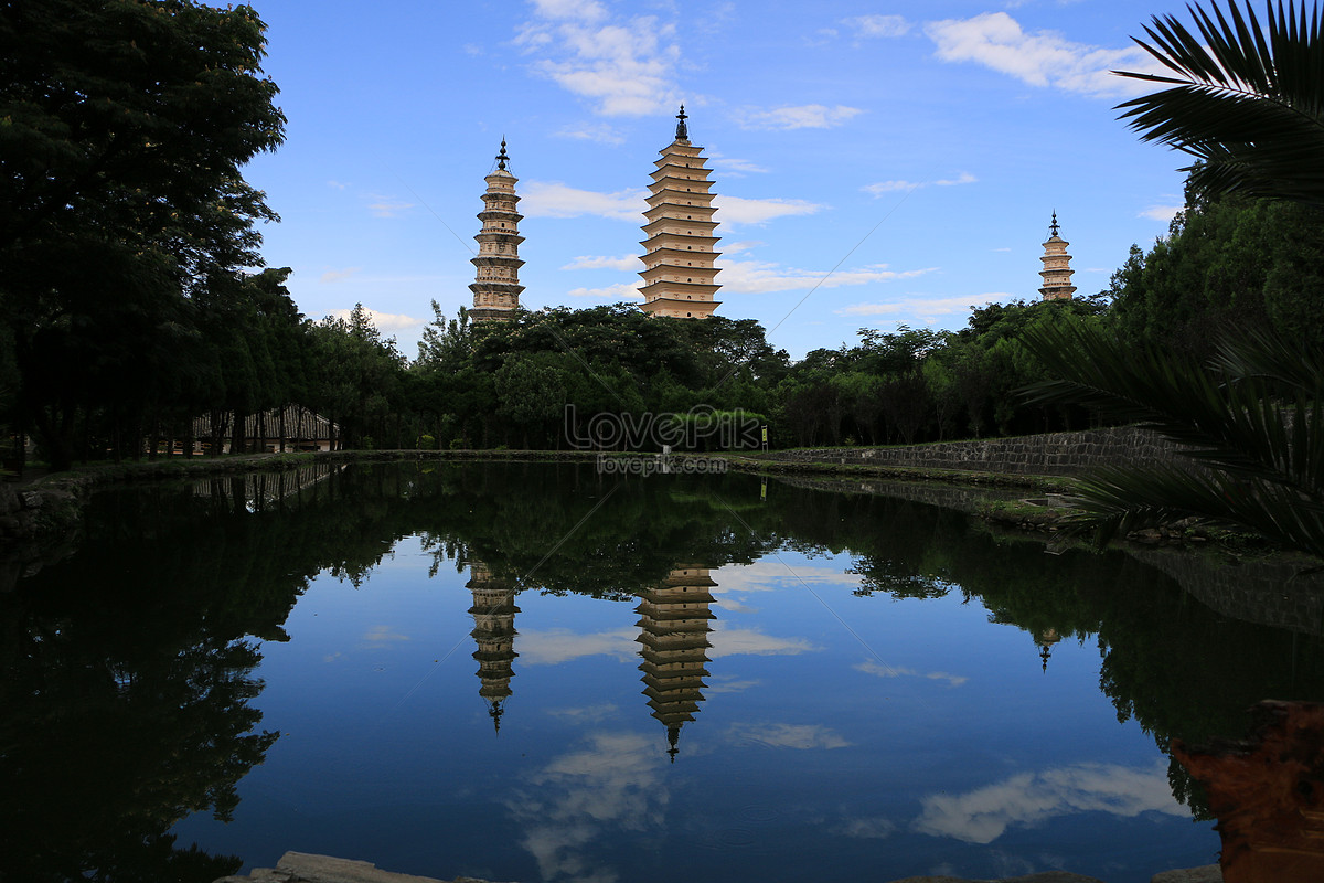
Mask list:
[[[677,582],[687,561],[715,571],[779,548],[849,551],[857,594],[960,593],[1026,633],[1026,665],[1045,665],[1053,638],[1095,643],[1119,719],[1164,751],[1174,737],[1239,735],[1243,710],[1266,696],[1324,699],[1317,635],[1223,618],[1125,555],[1046,556],[898,496],[773,482],[763,498],[745,475],[632,479],[589,465],[400,463],[95,499],[82,552],[0,594],[5,880],[209,882],[236,868],[168,831],[192,812],[228,818],[237,782],[277,739],[250,704],[262,683],[248,638],[285,639],[312,576],[360,585],[413,535],[434,575],[481,561],[485,585],[510,593],[654,606],[669,582],[691,585]],[[489,673],[499,706],[510,647],[479,651],[500,654]],[[670,700],[650,699],[658,714]],[[1176,765],[1170,784],[1204,814]]]

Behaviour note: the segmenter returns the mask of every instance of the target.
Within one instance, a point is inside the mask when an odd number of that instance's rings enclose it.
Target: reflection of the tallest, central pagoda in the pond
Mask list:
[[[671,763],[679,752],[681,727],[694,720],[703,702],[703,679],[707,650],[712,645],[708,634],[716,616],[710,610],[714,598],[710,592],[716,582],[708,577],[708,568],[685,564],[674,568],[666,581],[641,592],[639,637],[643,647],[643,695],[649,698],[653,716],[666,727],[667,755]]]

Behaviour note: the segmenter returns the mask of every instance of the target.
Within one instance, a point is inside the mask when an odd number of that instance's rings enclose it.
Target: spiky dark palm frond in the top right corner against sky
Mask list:
[[[1262,26],[1249,4],[1192,7],[1196,33],[1155,17],[1136,44],[1172,74],[1115,73],[1169,87],[1117,110],[1144,140],[1197,158],[1182,169],[1197,187],[1324,205],[1324,20],[1292,1],[1267,9]]]

